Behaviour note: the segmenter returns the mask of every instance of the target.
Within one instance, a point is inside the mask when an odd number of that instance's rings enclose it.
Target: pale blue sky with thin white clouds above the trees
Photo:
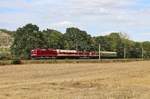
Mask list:
[[[27,23],[65,32],[78,27],[92,36],[111,32],[150,41],[150,0],[0,0],[0,28]]]

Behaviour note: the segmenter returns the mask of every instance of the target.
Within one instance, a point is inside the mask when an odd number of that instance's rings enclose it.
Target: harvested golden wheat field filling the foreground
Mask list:
[[[150,61],[2,66],[0,99],[150,99]]]

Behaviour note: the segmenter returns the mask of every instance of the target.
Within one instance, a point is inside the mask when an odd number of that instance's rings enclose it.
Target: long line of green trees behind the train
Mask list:
[[[99,44],[102,51],[115,51],[118,58],[150,58],[150,42],[135,42],[126,34],[110,33],[105,36],[92,37],[79,28],[67,28],[65,33],[57,30],[39,30],[37,25],[27,24],[13,32],[11,53],[14,57],[28,59],[30,51],[35,48],[56,48],[81,51],[98,51]]]

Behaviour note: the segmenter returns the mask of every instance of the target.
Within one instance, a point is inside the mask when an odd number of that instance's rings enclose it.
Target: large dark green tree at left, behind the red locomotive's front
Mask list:
[[[14,42],[11,46],[11,52],[17,58],[30,58],[30,51],[34,48],[45,47],[45,39],[39,27],[27,24],[18,28],[13,35]]]

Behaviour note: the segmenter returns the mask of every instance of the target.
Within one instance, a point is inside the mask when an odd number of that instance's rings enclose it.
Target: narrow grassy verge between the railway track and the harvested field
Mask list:
[[[60,63],[115,63],[145,61],[143,59],[49,59],[49,60],[21,60],[19,64],[60,64]],[[1,60],[0,65],[12,65],[14,60]]]

